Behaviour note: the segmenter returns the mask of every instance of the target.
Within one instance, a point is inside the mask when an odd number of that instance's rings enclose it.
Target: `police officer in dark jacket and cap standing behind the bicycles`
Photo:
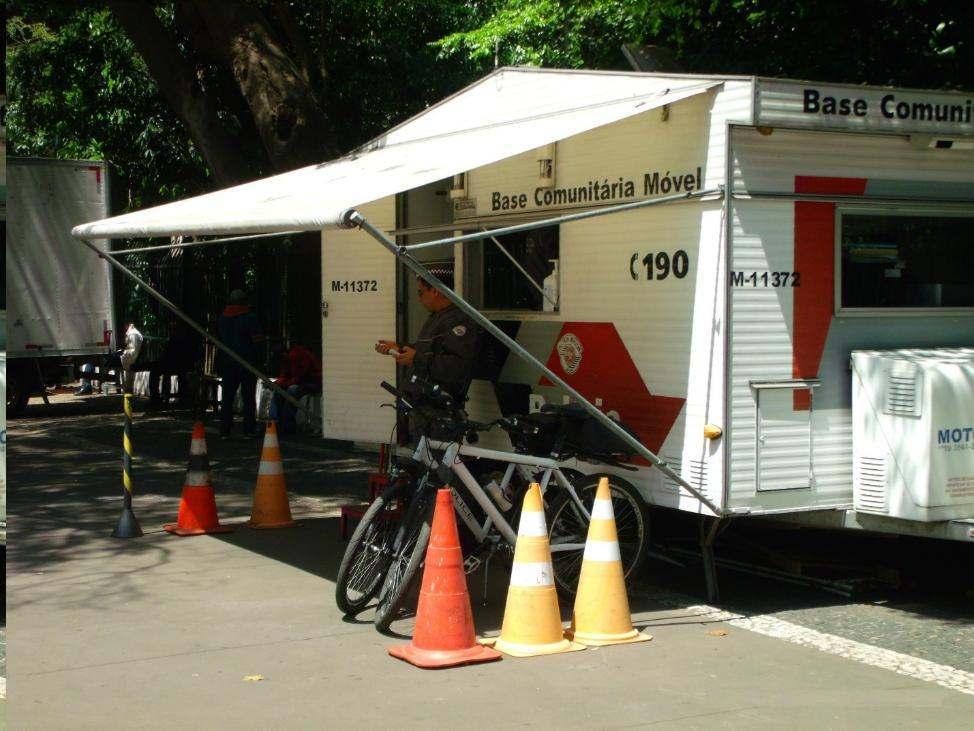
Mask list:
[[[453,289],[452,265],[431,266],[430,273]],[[408,384],[409,378],[415,374],[438,384],[453,397],[455,404],[462,405],[473,376],[480,329],[425,280],[417,278],[416,285],[420,304],[430,312],[416,342],[399,345],[394,340],[380,340],[375,349],[379,353],[391,354],[396,363],[407,367],[406,392],[417,390]]]

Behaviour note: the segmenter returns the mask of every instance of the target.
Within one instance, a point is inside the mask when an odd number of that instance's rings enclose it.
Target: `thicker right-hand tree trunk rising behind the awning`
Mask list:
[[[330,159],[337,146],[306,76],[260,11],[239,0],[195,0],[214,51],[233,71],[271,165],[279,170]]]

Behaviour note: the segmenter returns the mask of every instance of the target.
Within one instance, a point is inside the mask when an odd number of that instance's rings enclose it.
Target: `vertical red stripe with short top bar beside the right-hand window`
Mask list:
[[[863,195],[865,178],[795,176],[796,193]],[[794,289],[792,375],[815,378],[829,325],[835,312],[835,204],[795,203],[795,271],[801,284]],[[808,411],[809,391],[794,392],[794,409]]]

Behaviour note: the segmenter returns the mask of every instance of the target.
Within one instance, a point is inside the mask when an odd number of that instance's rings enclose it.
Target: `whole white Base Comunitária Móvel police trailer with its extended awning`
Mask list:
[[[557,259],[557,268],[522,266],[549,291],[557,272],[557,309],[494,286],[511,269],[497,264],[492,242],[414,253],[452,258],[458,293],[616,412],[709,506],[656,469],[619,471],[647,501],[970,540],[974,450],[954,436],[970,438],[972,412],[928,418],[934,448],[950,449],[927,484],[947,479],[950,489],[909,494],[893,479],[909,456],[902,446],[854,460],[856,439],[878,443],[853,429],[879,418],[861,408],[889,407],[857,398],[855,412],[854,377],[863,376],[850,364],[868,357],[858,351],[897,351],[883,356],[890,365],[873,376],[875,393],[886,399],[889,384],[913,378],[916,398],[893,404],[910,413],[890,418],[931,416],[924,404],[943,395],[923,384],[948,383],[959,404],[974,391],[971,117],[964,93],[501,69],[339,161],[75,233],[327,229],[324,434],[378,443],[393,419],[378,408],[377,383],[394,372],[371,345],[408,338],[422,313],[410,278],[370,236],[330,228],[344,209],[412,245],[644,201],[556,222],[532,242],[504,239],[514,258]],[[473,418],[561,399],[504,348],[482,365]],[[916,375],[931,369],[936,376]],[[944,433],[950,444],[938,445]],[[872,499],[857,501],[857,484]],[[909,501],[921,509],[902,510]]]

